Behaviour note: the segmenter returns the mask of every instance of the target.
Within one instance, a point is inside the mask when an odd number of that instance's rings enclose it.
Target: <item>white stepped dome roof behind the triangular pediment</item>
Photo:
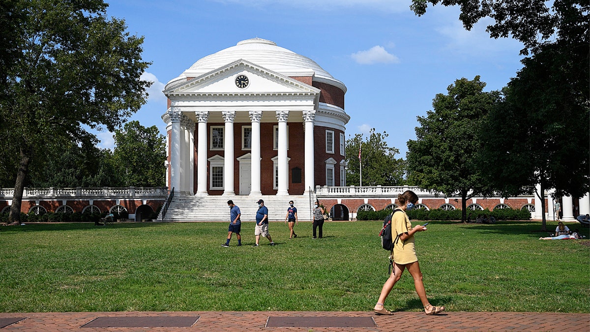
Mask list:
[[[242,40],[235,46],[225,48],[217,53],[211,54],[196,61],[181,76],[171,80],[169,83],[186,77],[197,77],[209,71],[218,69],[233,61],[244,59],[268,70],[276,71],[285,76],[301,76],[297,73],[315,72],[315,78],[332,85],[343,87],[344,84],[336,80],[315,61],[308,57],[301,56],[286,48],[277,46],[270,40],[253,38]],[[346,91],[346,90],[345,90]]]

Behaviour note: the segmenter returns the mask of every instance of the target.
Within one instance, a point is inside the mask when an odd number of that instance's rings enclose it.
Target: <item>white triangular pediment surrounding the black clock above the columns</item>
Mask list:
[[[236,83],[238,76],[247,77],[247,86],[238,86]],[[214,98],[215,96],[247,97],[276,94],[307,95],[319,98],[320,90],[246,60],[237,60],[186,82],[169,86],[164,93],[170,99],[188,96]]]

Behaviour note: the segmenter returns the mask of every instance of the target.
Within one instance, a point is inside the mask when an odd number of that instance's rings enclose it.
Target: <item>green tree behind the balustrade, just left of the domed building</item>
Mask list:
[[[166,139],[158,127],[144,127],[131,121],[115,131],[114,141],[113,167],[119,183],[126,187],[165,185]]]

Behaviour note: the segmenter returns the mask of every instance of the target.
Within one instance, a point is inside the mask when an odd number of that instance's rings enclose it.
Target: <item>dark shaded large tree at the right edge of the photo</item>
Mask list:
[[[545,191],[582,197],[590,181],[588,54],[545,45],[526,58],[487,119],[481,167],[503,196]],[[576,61],[585,61],[581,68]],[[578,71],[573,72],[573,71]],[[536,190],[536,185],[540,190]],[[542,229],[546,230],[545,213]]]

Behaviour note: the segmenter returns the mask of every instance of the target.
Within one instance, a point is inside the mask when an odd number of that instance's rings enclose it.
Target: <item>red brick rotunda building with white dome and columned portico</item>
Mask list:
[[[310,58],[244,40],[196,61],[163,92],[176,193],[289,196],[346,185],[346,86]]]

